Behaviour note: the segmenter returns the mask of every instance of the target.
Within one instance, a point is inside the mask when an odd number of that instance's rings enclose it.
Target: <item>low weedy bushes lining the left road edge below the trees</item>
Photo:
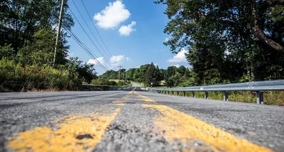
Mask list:
[[[67,70],[56,70],[48,65],[21,67],[11,60],[0,60],[0,85],[12,90],[73,90],[81,84],[77,75],[70,75]]]

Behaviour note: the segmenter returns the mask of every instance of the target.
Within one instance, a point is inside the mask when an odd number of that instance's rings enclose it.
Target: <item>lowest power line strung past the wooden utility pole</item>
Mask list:
[[[35,2],[35,1],[34,1]],[[35,2],[36,4],[39,4],[37,2]],[[43,6],[41,6],[40,4],[38,5],[40,6],[41,9],[43,9],[45,12],[48,12]],[[59,18],[59,16],[57,16],[55,13],[53,13],[53,15],[57,18]],[[107,71],[107,67],[105,67],[104,65],[102,65],[102,63],[99,62],[99,60],[97,60],[96,55],[94,55],[94,53],[92,53],[91,50],[89,50],[89,48],[87,48],[86,45],[84,45],[84,43],[82,43],[82,40],[80,40],[79,38],[77,38],[77,36],[75,35],[75,33],[72,33],[72,31],[69,30],[69,28],[67,28],[67,26],[65,26],[64,23],[62,23],[62,27],[67,31],[67,33],[70,33],[70,36],[72,36],[72,38],[75,39],[75,41],[81,46],[81,48],[83,48],[83,50],[91,57],[94,59],[94,61],[100,66],[102,67],[103,70]],[[96,58],[94,58],[96,57]]]

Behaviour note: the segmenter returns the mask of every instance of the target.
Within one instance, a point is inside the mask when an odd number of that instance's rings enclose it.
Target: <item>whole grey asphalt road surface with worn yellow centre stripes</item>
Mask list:
[[[109,92],[0,94],[0,151],[284,151],[284,108]]]

